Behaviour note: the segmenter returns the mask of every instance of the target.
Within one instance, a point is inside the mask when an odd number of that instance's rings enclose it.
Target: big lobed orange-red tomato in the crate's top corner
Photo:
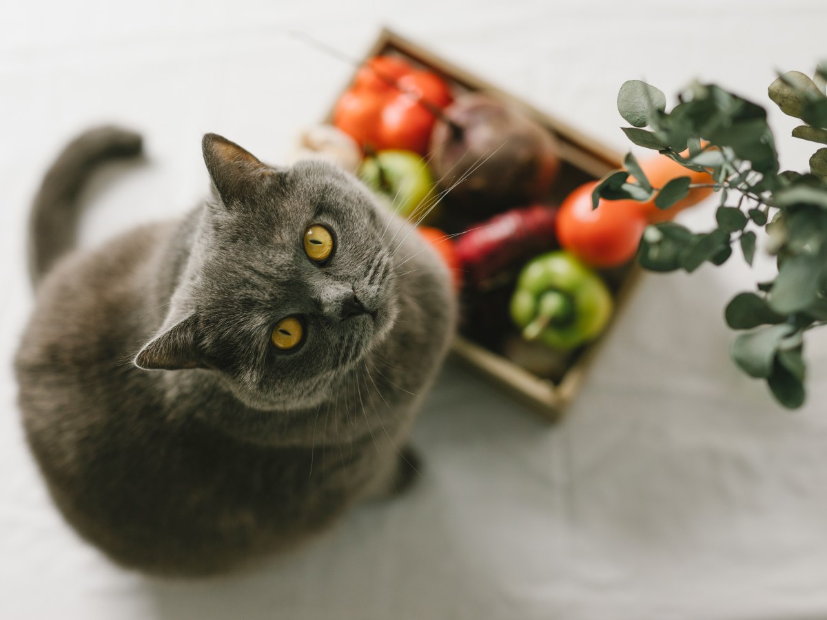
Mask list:
[[[437,74],[395,56],[362,65],[333,111],[333,124],[363,147],[428,151],[436,114],[452,102]]]

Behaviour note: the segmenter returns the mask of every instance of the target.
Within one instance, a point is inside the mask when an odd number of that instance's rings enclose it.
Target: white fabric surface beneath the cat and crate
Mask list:
[[[347,80],[291,30],[361,55],[389,24],[625,150],[625,79],[672,96],[697,76],[767,105],[773,70],[824,54],[825,22],[821,0],[5,2],[0,618],[827,618],[825,337],[808,404],[778,408],[728,359],[722,308],[756,278],[737,260],[646,277],[557,426],[449,365],[414,431],[427,470],[411,494],[227,579],[146,579],[79,541],[26,451],[10,366],[31,308],[27,203],[60,145],[102,120],[146,136],[144,165],[96,181],[84,243],[183,212],[207,188],[204,131],[278,160]],[[782,164],[803,168],[810,145],[771,119]]]

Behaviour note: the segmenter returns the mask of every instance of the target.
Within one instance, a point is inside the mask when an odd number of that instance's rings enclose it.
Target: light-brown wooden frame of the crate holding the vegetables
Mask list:
[[[380,32],[374,45],[366,54],[366,58],[375,55],[399,55],[419,64],[425,69],[442,75],[452,86],[459,90],[483,92],[492,97],[519,107],[533,117],[541,125],[546,126],[556,137],[559,143],[561,171],[557,180],[558,199],[576,188],[579,184],[590,179],[600,177],[614,169],[623,167],[623,156],[617,151],[577,131],[556,117],[541,112],[535,107],[515,98],[493,84],[468,73],[457,65],[442,60],[425,50],[421,45],[409,41],[402,36],[384,29]],[[347,88],[350,84],[347,85]],[[327,122],[332,120],[332,110],[327,116]],[[639,270],[633,265],[623,269],[615,269],[608,274],[610,287],[615,298],[615,312],[617,316],[624,302],[628,298],[633,285],[638,280]],[[466,336],[457,336],[453,343],[452,354],[495,384],[506,389],[519,401],[527,404],[534,411],[549,421],[557,420],[565,411],[566,406],[575,398],[586,378],[590,363],[596,355],[600,355],[601,342],[611,325],[597,341],[584,347],[576,355],[567,368],[562,379],[557,383],[552,380],[533,374],[513,361],[480,345]]]

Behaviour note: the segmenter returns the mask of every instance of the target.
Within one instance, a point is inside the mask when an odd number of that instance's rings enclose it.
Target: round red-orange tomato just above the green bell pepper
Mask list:
[[[632,200],[601,200],[591,208],[592,181],[571,192],[557,212],[557,240],[593,267],[616,267],[632,260],[647,221]]]

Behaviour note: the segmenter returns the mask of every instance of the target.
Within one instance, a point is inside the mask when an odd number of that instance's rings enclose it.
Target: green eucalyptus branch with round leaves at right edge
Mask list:
[[[819,86],[804,74],[784,74],[772,83],[769,96],[782,112],[806,123],[793,136],[827,145],[825,71],[818,75]],[[804,334],[827,325],[827,148],[810,157],[808,172],[780,172],[763,107],[715,84],[691,84],[678,101],[667,112],[660,90],[638,80],[624,83],[618,110],[632,126],[623,131],[634,144],[709,173],[715,183],[691,183],[684,176],[653,188],[629,154],[626,164],[636,182],[629,183],[628,173],[609,174],[595,188],[595,206],[600,198],[654,198],[657,207],[667,209],[692,188],[721,193],[712,231],[693,232],[675,222],[648,227],[638,260],[654,271],[723,265],[736,242],[752,265],[757,241],[752,228],[766,235],[778,272],[727,305],[729,327],[742,331],[732,357],[745,373],[766,380],[779,403],[799,407],[805,399]],[[688,157],[683,155],[687,147]],[[739,194],[735,206],[728,204],[729,193]]]

